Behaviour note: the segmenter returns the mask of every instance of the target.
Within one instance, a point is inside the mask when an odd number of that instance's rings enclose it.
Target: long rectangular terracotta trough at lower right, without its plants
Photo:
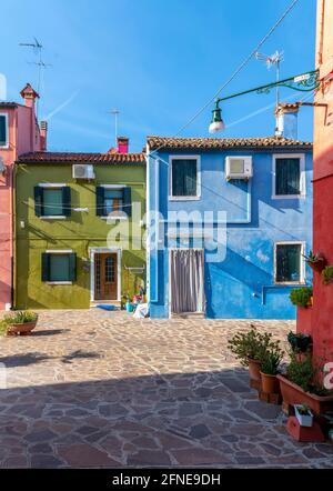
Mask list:
[[[306,404],[316,415],[333,411],[333,395],[316,395],[305,392],[284,375],[278,375],[278,379],[285,408],[294,404]]]

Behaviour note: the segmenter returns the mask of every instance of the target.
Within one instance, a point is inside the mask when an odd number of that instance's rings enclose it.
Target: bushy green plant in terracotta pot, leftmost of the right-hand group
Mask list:
[[[271,343],[271,333],[259,332],[253,324],[248,332],[238,332],[228,342],[229,350],[243,367],[249,367],[250,379],[261,380],[261,363]]]

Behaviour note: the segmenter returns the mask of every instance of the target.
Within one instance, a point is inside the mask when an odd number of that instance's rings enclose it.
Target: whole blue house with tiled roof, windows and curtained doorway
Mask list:
[[[284,137],[149,137],[152,318],[295,319],[311,283],[312,144]]]

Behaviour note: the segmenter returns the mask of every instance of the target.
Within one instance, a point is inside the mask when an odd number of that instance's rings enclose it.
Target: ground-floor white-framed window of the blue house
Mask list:
[[[303,283],[303,243],[275,244],[275,283]]]

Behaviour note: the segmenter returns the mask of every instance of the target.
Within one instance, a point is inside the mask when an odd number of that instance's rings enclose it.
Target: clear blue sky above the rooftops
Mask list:
[[[8,99],[37,84],[38,61],[19,47],[37,37],[44,46],[40,117],[49,119],[49,150],[107,151],[119,133],[140,151],[147,134],[174,136],[215,93],[282,14],[291,0],[6,0],[0,72]],[[314,68],[315,0],[300,0],[262,48],[284,51],[282,78]],[[273,81],[253,59],[224,94]],[[283,90],[282,99],[300,100]],[[224,103],[224,137],[274,131],[274,93]],[[208,137],[211,109],[182,136]],[[241,120],[241,121],[240,121]],[[299,137],[312,140],[312,109],[302,108]]]

